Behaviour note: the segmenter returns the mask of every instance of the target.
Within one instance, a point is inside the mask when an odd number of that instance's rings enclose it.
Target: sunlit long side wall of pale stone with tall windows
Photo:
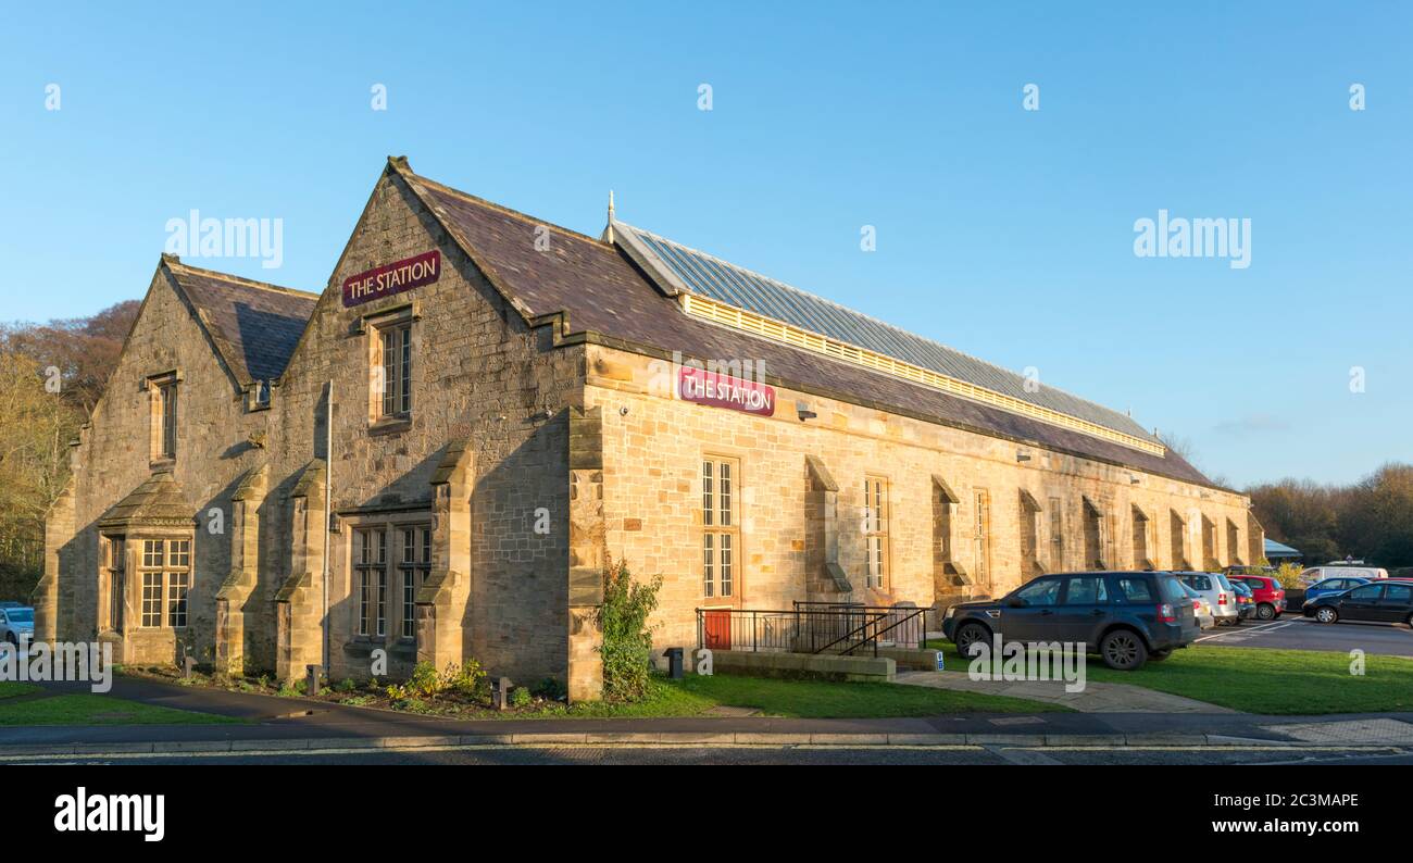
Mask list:
[[[1142,475],[1033,446],[1017,446],[955,428],[890,415],[853,404],[777,391],[776,414],[753,417],[732,410],[671,398],[670,362],[593,346],[589,350],[585,404],[601,408],[603,429],[603,518],[608,549],[623,557],[642,576],[663,575],[661,607],[654,619],[660,645],[694,644],[701,606],[735,605],[790,609],[794,600],[838,599],[873,603],[947,605],[964,595],[999,595],[1039,569],[1094,568],[1085,561],[1088,499],[1105,514],[1112,535],[1111,568],[1143,568],[1132,541],[1133,507],[1150,516],[1149,552],[1157,566],[1170,566],[1170,510],[1184,514],[1186,541],[1202,516],[1217,524],[1231,518],[1245,528],[1246,500],[1238,494]],[[797,403],[817,415],[801,421]],[[704,455],[739,459],[740,576],[728,603],[706,599],[701,586],[701,462]],[[1019,460],[1023,453],[1027,460]],[[814,462],[814,465],[811,465]],[[827,469],[821,479],[818,466]],[[883,477],[889,487],[887,561],[882,590],[863,578],[863,477]],[[937,514],[941,477],[957,494],[950,518]],[[846,583],[817,572],[828,559],[822,486],[838,486],[836,559]],[[1029,499],[1023,494],[1029,492]],[[938,525],[948,524],[952,559],[975,575],[976,493],[989,497],[989,583],[958,585],[942,572]],[[1050,510],[1058,500],[1061,547],[1056,559]],[[1034,511],[1039,504],[1040,511]],[[1023,518],[1034,518],[1022,530]],[[1034,537],[1031,561],[1023,559],[1022,537]],[[1243,530],[1238,541],[1245,544]],[[1108,540],[1108,537],[1105,537]],[[1217,558],[1232,561],[1228,531],[1217,531]],[[1106,542],[1105,542],[1106,544]],[[1101,544],[1104,545],[1104,544]],[[1198,561],[1193,561],[1200,565]],[[941,586],[941,589],[938,589]]]

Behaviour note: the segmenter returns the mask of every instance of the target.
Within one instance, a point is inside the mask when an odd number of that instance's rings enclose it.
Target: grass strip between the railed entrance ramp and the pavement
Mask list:
[[[786,681],[774,678],[688,675],[653,679],[653,695],[632,705],[582,703],[560,716],[651,718],[699,716],[716,706],[753,708],[769,716],[798,719],[873,719],[940,713],[1037,713],[1067,710],[1023,698],[948,692],[896,684]]]

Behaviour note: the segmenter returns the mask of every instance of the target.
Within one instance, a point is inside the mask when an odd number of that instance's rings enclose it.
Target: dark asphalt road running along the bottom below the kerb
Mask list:
[[[14,763],[14,761],[13,761]],[[219,756],[92,756],[35,758],[35,764],[442,764],[458,767],[537,764],[1160,764],[1160,766],[1258,766],[1258,764],[1405,764],[1413,766],[1406,749],[1027,749],[1007,746],[957,749],[906,747],[463,747],[428,751],[342,751]]]

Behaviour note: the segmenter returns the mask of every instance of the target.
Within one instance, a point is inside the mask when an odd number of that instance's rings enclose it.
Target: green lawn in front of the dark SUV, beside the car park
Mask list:
[[[928,647],[945,651],[948,671],[966,671],[968,661],[950,641]],[[1248,713],[1413,710],[1413,660],[1400,657],[1366,655],[1359,677],[1349,674],[1342,653],[1198,644],[1137,671],[1113,671],[1091,655],[1085,672],[1091,681],[1147,686]]]

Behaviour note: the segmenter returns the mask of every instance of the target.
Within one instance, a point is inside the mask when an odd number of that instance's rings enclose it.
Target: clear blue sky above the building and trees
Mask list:
[[[321,290],[406,154],[586,233],[612,188],[626,222],[1132,408],[1238,486],[1413,460],[1413,7],[1065,6],[11,6],[0,319],[138,297],[194,208],[284,220],[278,270],[196,263]],[[1159,209],[1251,219],[1251,267],[1136,257]]]

